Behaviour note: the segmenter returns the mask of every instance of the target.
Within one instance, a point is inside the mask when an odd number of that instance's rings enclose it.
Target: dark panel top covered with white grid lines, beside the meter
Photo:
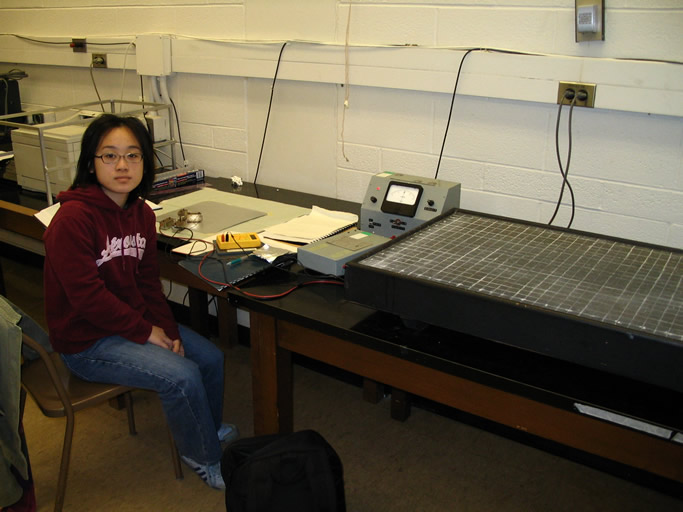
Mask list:
[[[683,340],[679,252],[456,212],[360,263]]]

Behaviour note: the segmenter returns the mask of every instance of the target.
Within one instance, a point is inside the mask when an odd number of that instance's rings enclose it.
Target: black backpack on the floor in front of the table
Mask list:
[[[240,439],[223,452],[228,512],[345,512],[337,452],[314,430]]]

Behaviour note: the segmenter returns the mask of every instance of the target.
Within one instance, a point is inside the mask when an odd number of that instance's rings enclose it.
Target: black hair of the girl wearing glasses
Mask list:
[[[136,117],[117,116],[115,114],[101,114],[95,118],[86,128],[81,140],[81,154],[76,166],[76,177],[71,184],[70,190],[98,183],[95,168],[95,153],[102,138],[114,128],[128,128],[137,139],[142,150],[142,180],[140,184],[131,190],[126,200],[126,206],[130,205],[138,197],[146,198],[152,191],[154,183],[154,145],[152,137],[142,121]]]

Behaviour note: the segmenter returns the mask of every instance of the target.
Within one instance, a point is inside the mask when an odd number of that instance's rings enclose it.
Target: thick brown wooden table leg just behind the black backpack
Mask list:
[[[292,355],[277,345],[277,321],[251,312],[250,342],[254,435],[289,433],[292,410]]]

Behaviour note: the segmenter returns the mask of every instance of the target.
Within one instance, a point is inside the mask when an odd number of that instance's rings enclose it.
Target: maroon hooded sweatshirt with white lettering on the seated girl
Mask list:
[[[45,313],[57,352],[81,352],[105,336],[145,343],[178,326],[164,297],[154,212],[141,199],[120,208],[98,185],[67,190],[45,231]]]

